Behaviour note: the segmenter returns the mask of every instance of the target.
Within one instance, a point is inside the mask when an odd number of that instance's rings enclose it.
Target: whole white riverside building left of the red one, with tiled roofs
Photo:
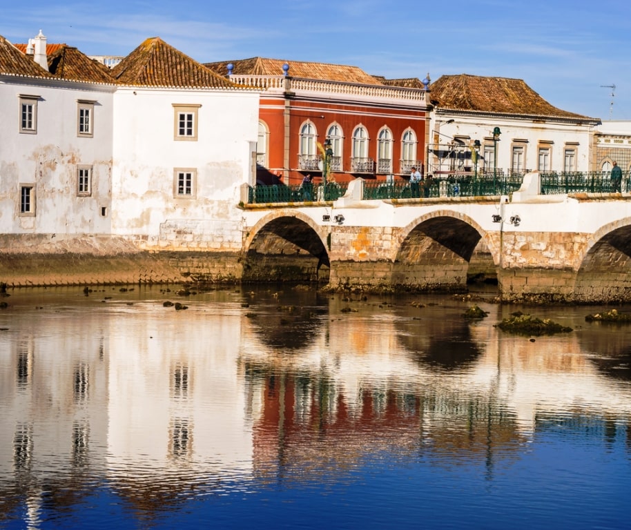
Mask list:
[[[22,47],[0,38],[0,233],[241,248],[257,92],[158,38],[111,70],[41,32]]]

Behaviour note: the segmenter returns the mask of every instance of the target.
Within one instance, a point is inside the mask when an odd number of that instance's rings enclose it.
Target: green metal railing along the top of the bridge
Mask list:
[[[555,195],[563,193],[612,193],[609,171],[541,173],[541,193]],[[493,197],[510,195],[521,187],[523,173],[498,172],[473,175],[450,175],[436,177],[426,193],[424,183],[419,186],[417,197]],[[363,182],[363,199],[409,199],[413,197],[407,181]],[[348,184],[329,182],[312,186],[251,186],[249,203],[335,201],[346,193]],[[623,173],[621,191],[631,191],[631,172]]]

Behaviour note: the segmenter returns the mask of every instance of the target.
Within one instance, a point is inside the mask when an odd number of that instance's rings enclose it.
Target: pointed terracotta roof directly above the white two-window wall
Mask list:
[[[119,83],[127,85],[199,88],[236,86],[159,37],[146,39],[111,72]]]

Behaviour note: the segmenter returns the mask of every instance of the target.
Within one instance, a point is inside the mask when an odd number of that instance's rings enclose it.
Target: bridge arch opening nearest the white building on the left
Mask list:
[[[246,249],[243,282],[329,282],[329,253],[320,235],[293,216],[272,219]]]

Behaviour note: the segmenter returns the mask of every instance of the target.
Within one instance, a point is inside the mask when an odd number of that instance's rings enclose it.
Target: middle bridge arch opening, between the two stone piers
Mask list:
[[[481,235],[456,217],[432,217],[402,242],[392,271],[396,288],[412,291],[465,291],[467,271]]]

